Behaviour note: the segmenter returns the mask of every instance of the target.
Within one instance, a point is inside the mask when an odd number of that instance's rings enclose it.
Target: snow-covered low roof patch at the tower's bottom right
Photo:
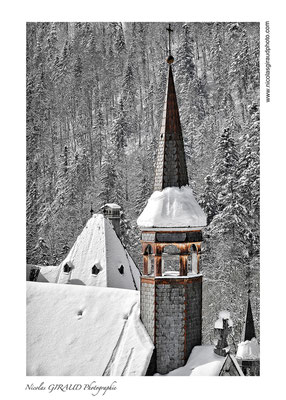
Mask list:
[[[224,361],[225,357],[214,353],[214,346],[195,346],[184,367],[174,369],[164,376],[218,376]]]

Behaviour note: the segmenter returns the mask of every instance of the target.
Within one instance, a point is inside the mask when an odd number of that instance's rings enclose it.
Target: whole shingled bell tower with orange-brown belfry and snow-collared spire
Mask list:
[[[141,319],[155,345],[149,374],[183,366],[201,344],[199,259],[206,216],[188,186],[173,60],[169,55],[154,193],[137,220],[143,252]]]

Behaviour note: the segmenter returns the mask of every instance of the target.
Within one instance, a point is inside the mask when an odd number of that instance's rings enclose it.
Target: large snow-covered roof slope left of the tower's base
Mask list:
[[[145,375],[139,292],[27,282],[27,375]]]

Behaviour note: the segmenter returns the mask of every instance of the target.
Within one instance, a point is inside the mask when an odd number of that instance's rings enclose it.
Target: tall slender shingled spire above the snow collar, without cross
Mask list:
[[[154,191],[188,184],[179,108],[172,66],[169,64],[169,76],[157,152]]]

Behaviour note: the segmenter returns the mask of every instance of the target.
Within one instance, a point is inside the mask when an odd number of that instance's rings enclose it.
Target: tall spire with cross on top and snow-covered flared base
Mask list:
[[[172,29],[169,25],[169,40]],[[169,43],[169,49],[171,44]],[[137,219],[140,229],[196,228],[206,226],[206,215],[188,186],[188,171],[179,108],[171,64],[167,58],[169,76],[157,150],[154,193]]]

